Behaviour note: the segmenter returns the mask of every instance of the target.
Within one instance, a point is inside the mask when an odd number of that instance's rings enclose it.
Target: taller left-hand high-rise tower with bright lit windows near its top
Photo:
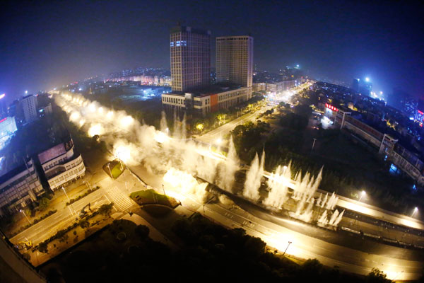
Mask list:
[[[192,91],[211,82],[211,32],[176,26],[170,33],[172,92]]]

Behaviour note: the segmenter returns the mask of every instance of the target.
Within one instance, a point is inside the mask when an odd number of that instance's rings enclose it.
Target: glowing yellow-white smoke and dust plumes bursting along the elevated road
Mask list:
[[[164,175],[165,182],[182,192],[192,193],[201,202],[206,199],[205,188],[207,183],[199,183],[197,176],[209,183],[232,192],[235,173],[240,170],[240,161],[232,143],[228,144],[228,156],[216,154],[206,146],[187,139],[185,116],[179,120],[174,115],[173,132],[167,125],[165,112],[160,120],[160,130],[153,126],[143,125],[125,111],[115,111],[105,108],[96,101],[90,101],[78,94],[62,93],[55,96],[59,105],[69,115],[69,120],[77,127],[87,132],[90,137],[99,135],[116,158],[131,165],[143,164],[151,173]],[[242,195],[254,202],[259,202],[261,181],[264,180],[265,153],[254,157],[249,170]],[[290,164],[278,166],[269,176],[267,182],[269,194],[263,204],[273,209],[281,209],[288,201],[288,185],[291,181]],[[336,225],[341,220],[338,211],[327,219],[327,210],[334,209],[338,197],[333,193],[325,197],[319,196],[315,202],[314,195],[322,179],[322,171],[316,178],[305,173],[298,173],[295,177],[293,195],[297,201],[295,212],[290,216],[303,221],[311,221],[314,205],[325,208],[319,217],[321,224]],[[339,216],[340,215],[340,216]]]

